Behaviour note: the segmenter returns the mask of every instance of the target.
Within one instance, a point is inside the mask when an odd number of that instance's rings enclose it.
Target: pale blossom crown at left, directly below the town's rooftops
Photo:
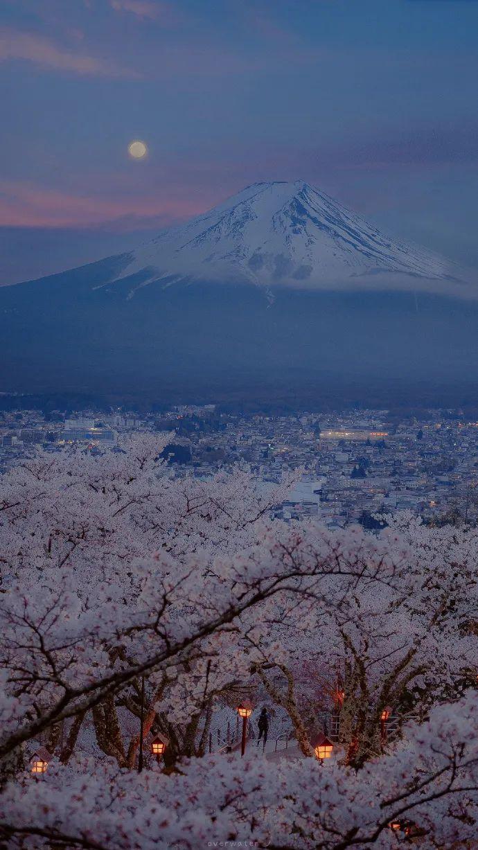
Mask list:
[[[2,580],[68,567],[82,581],[127,581],[131,562],[156,550],[210,558],[254,540],[261,519],[297,479],[260,490],[247,469],[201,481],[171,477],[160,457],[168,434],[123,438],[103,455],[71,446],[39,451],[3,476]]]

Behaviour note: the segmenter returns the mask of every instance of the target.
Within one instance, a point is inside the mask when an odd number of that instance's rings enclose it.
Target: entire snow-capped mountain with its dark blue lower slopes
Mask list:
[[[475,282],[303,181],[253,184],[133,252],[3,286],[0,331],[3,392],[476,397]]]

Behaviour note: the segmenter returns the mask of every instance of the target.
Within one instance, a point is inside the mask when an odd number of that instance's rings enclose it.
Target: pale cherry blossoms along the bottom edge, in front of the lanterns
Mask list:
[[[180,773],[78,760],[25,774],[0,796],[9,847],[466,847],[478,817],[478,701],[440,706],[394,753],[358,773],[332,758],[210,757]],[[472,846],[470,843],[469,846]]]

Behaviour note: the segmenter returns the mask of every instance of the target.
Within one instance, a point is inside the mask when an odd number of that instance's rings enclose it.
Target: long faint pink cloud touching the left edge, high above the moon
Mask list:
[[[46,68],[84,76],[139,77],[138,71],[114,62],[60,47],[48,38],[7,28],[0,29],[0,62],[23,59]]]

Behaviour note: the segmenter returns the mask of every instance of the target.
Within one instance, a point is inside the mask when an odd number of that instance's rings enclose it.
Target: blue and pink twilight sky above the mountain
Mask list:
[[[478,0],[3,0],[0,283],[296,178],[478,269],[477,31]]]

